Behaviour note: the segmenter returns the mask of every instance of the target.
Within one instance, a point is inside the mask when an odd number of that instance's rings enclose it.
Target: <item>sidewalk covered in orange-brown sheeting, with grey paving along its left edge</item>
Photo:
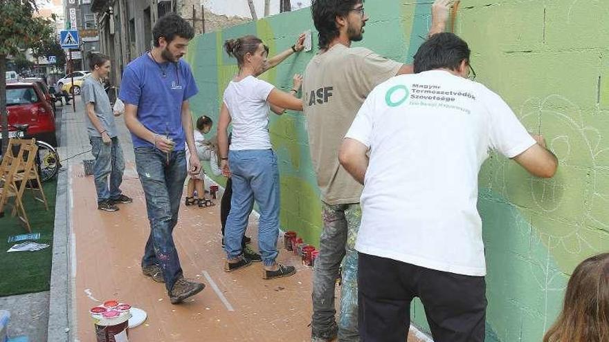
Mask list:
[[[145,324],[130,330],[131,341],[310,341],[313,269],[282,249],[280,239],[278,261],[296,266],[295,276],[264,281],[260,263],[225,273],[219,200],[215,207],[181,206],[174,230],[181,265],[185,276],[206,289],[181,305],[170,304],[165,286],[140,270],[149,222],[122,117],[117,120],[127,162],[122,190],[134,202],[115,213],[97,210],[93,178],[84,176],[82,160],[92,158],[84,120],[77,99],[76,113],[68,108],[63,121],[66,147],[60,155],[69,159],[57,188],[48,341],[95,341],[89,309],[109,299],[147,312]],[[247,235],[253,249],[256,226],[251,218]]]

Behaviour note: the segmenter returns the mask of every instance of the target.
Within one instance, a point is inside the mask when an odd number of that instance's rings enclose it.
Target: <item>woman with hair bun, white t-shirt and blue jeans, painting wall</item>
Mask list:
[[[233,198],[226,221],[224,243],[226,272],[251,265],[244,257],[242,238],[254,201],[258,205],[258,248],[264,263],[264,279],[291,276],[292,266],[275,262],[279,234],[279,171],[277,156],[269,136],[269,110],[281,115],[285,109],[302,111],[302,100],[296,98],[302,76],[294,76],[294,88],[284,93],[257,76],[273,68],[292,53],[302,50],[304,35],[290,49],[267,60],[269,48],[254,36],[226,41],[229,56],[237,59],[239,74],[224,91],[218,124],[221,169],[233,179]],[[228,124],[233,123],[233,137],[228,146]],[[230,164],[230,169],[228,165]]]

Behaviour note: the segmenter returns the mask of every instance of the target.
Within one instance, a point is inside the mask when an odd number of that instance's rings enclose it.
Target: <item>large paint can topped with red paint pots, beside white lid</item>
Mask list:
[[[97,342],[129,342],[129,318],[131,305],[107,301],[91,308],[91,318],[96,328]]]

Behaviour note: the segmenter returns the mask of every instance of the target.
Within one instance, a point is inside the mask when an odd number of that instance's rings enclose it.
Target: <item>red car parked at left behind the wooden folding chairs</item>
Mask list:
[[[37,140],[57,146],[55,112],[35,82],[7,84],[6,110],[9,126],[28,124],[26,137],[35,137]]]

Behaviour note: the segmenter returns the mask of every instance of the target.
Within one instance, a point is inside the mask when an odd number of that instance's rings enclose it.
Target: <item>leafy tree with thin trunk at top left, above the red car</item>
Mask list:
[[[33,42],[48,34],[46,20],[33,17],[38,10],[36,0],[0,0],[0,75],[6,73],[6,61],[10,55],[18,55],[20,48],[28,48]],[[0,77],[0,126],[2,144],[8,144],[8,113],[6,112],[6,79]]]

